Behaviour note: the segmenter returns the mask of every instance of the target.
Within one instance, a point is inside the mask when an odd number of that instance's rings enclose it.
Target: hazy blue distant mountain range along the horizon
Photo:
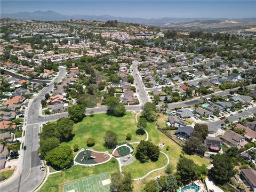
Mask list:
[[[41,21],[61,21],[68,19],[84,19],[88,21],[107,21],[117,20],[119,22],[132,22],[142,23],[146,25],[170,25],[170,23],[183,23],[183,22],[194,22],[194,21],[221,21],[230,20],[228,18],[160,18],[160,19],[143,19],[143,18],[127,18],[127,17],[114,17],[111,15],[63,15],[54,11],[35,11],[35,12],[19,12],[19,13],[1,13],[1,18],[12,18],[12,19],[29,19],[29,20],[41,20]],[[236,22],[251,22],[256,21],[256,18],[248,19],[231,19]]]

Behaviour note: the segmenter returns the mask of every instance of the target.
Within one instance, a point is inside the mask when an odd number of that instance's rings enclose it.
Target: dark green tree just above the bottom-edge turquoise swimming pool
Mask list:
[[[193,160],[182,157],[177,163],[177,174],[183,184],[188,184],[196,179],[196,165]]]

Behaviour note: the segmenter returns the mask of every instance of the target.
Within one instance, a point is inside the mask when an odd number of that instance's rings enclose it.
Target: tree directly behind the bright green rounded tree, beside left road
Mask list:
[[[44,158],[49,151],[51,151],[55,147],[59,147],[60,140],[58,138],[51,137],[45,140],[40,140],[39,144],[40,144],[39,153],[41,157]]]

